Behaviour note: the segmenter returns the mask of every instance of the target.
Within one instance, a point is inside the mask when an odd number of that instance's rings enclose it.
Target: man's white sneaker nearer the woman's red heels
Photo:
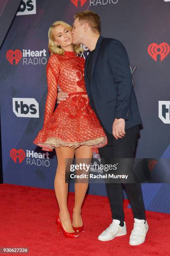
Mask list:
[[[124,222],[123,227],[121,227],[119,223],[120,220],[113,220],[109,227],[98,236],[98,239],[100,241],[109,241],[115,238],[116,236],[126,235],[126,223]]]

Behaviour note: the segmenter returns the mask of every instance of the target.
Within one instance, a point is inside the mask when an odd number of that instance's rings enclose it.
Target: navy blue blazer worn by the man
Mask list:
[[[93,97],[104,128],[112,134],[114,118],[124,118],[125,129],[142,123],[123,44],[117,39],[99,36],[91,67],[91,85],[86,74],[88,56],[84,68],[86,91],[92,108]]]

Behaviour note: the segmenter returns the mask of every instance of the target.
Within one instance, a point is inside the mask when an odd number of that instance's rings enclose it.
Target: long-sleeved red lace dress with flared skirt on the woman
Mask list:
[[[46,74],[48,94],[45,105],[43,128],[39,131],[34,144],[42,150],[53,151],[54,147],[81,145],[91,146],[99,153],[99,147],[107,144],[107,136],[101,127],[94,110],[89,104],[84,81],[85,59],[74,51],[64,55],[51,54]],[[57,87],[69,94],[54,111]],[[54,112],[53,112],[54,111]]]

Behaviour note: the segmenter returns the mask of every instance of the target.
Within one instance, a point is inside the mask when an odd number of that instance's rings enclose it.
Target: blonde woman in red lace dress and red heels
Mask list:
[[[77,56],[83,51],[80,45],[72,44],[72,27],[56,21],[48,31],[48,48],[51,56],[46,67],[48,94],[43,128],[33,143],[42,150],[53,151],[58,160],[54,187],[60,212],[56,223],[67,238],[77,238],[83,230],[81,205],[86,195],[88,182],[75,183],[73,222],[67,208],[68,183],[65,182],[65,161],[91,159],[93,152],[107,144],[107,136],[94,110],[89,104],[84,81],[84,58]],[[54,111],[57,86],[69,94]],[[54,111],[54,112],[53,112]]]

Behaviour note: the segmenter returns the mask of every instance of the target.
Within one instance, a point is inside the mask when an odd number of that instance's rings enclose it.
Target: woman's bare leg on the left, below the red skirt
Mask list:
[[[68,194],[68,183],[65,182],[65,173],[66,173],[66,159],[74,158],[75,148],[69,147],[60,147],[55,148],[57,155],[57,171],[56,177],[54,180],[54,188],[56,192],[56,197],[58,205],[60,208],[60,219],[66,232],[72,233],[74,229],[71,224],[70,214],[67,208],[67,194]]]

